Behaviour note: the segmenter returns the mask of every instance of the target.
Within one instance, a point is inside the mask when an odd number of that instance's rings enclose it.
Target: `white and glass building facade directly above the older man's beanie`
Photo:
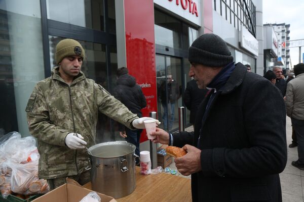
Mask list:
[[[262,75],[262,64],[258,61],[263,56],[259,41],[262,30],[257,26],[260,21],[256,22],[261,3],[257,2],[257,6],[254,1],[215,0],[213,33],[226,41],[236,63],[249,64],[252,72]]]

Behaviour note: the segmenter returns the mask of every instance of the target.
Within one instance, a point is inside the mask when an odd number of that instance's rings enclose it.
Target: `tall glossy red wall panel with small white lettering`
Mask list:
[[[157,89],[154,40],[154,4],[153,1],[124,1],[126,55],[129,74],[136,78],[146,97],[147,107],[143,116],[157,112]],[[143,131],[140,142],[146,141]]]

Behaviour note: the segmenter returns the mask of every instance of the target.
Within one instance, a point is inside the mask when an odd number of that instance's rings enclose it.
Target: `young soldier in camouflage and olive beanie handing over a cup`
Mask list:
[[[84,145],[95,144],[98,111],[130,129],[143,129],[143,121],[102,86],[87,79],[81,70],[85,51],[73,39],[56,46],[52,75],[38,82],[27,103],[30,133],[38,139],[39,177],[51,189],[69,177],[81,184],[90,181],[88,154]],[[157,121],[158,122],[158,121]]]

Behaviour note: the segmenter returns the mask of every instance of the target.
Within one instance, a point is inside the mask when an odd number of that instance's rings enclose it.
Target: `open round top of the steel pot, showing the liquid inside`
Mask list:
[[[97,158],[116,158],[134,153],[136,146],[126,141],[103,142],[91,146],[93,157]]]

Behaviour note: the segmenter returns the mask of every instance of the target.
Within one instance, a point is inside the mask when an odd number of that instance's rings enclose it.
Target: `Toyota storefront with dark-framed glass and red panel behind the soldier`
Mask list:
[[[51,76],[56,44],[64,38],[80,41],[86,50],[82,71],[109,92],[117,68],[128,67],[147,100],[143,115],[156,111],[167,122],[160,127],[178,129],[181,94],[190,80],[187,49],[204,29],[202,9],[200,0],[0,1],[0,135],[30,135],[27,100],[35,83]],[[169,77],[178,90],[174,105],[168,88],[161,94]],[[117,123],[100,114],[97,141],[118,136]]]

